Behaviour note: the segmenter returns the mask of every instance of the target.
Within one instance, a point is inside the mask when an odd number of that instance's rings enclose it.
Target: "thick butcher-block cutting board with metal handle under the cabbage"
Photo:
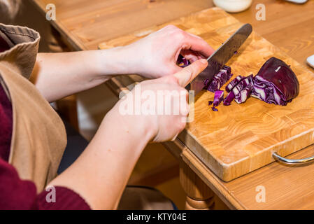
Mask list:
[[[210,8],[101,43],[99,48],[127,45],[169,24],[201,36],[215,49],[242,25],[220,8]],[[203,90],[196,96],[194,121],[179,135],[223,181],[231,181],[273,162],[273,152],[285,156],[314,143],[314,74],[311,71],[256,34],[254,27],[227,65],[231,66],[234,77],[248,76],[256,74],[269,57],[282,59],[297,74],[300,93],[292,103],[276,106],[251,97],[244,104],[220,105],[219,111],[214,112],[208,106],[213,93]]]

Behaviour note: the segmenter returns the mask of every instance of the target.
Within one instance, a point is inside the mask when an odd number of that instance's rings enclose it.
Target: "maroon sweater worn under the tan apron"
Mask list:
[[[0,36],[0,52],[4,50],[8,50],[8,45]],[[33,182],[20,179],[8,163],[12,130],[12,105],[0,85],[0,209],[90,209],[73,190],[56,186],[56,201],[49,203],[46,196],[51,199],[51,191],[44,190],[37,195]]]

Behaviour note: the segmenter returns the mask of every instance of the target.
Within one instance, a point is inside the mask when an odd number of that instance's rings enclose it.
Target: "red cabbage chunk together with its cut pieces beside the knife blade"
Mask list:
[[[224,84],[227,74],[231,75],[231,69],[228,68],[224,66],[222,69],[224,71],[220,70],[220,73],[213,77],[212,82],[209,83],[208,80],[205,80],[208,90],[219,89]],[[285,106],[298,96],[299,81],[289,65],[276,57],[271,57],[259,69],[255,77],[253,75],[248,77],[236,76],[226,86],[226,91],[229,94],[223,99],[224,106],[229,106],[233,100],[238,104],[242,104],[250,95],[269,104]],[[208,105],[213,104],[213,111],[218,111],[215,106],[220,104],[223,95],[223,91],[215,91],[214,102],[208,102]]]

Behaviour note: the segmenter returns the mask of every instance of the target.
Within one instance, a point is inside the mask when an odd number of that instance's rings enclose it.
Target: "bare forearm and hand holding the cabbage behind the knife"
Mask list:
[[[113,76],[137,73],[159,78],[181,71],[178,55],[190,62],[213,49],[201,38],[167,26],[125,47],[80,52],[40,53],[31,81],[49,102],[88,90]]]

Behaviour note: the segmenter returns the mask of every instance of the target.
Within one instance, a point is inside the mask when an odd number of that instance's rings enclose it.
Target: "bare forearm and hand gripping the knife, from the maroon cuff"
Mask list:
[[[185,67],[178,73],[164,76],[155,80],[141,83],[140,94],[146,97],[167,90],[183,91],[184,86],[207,66],[206,59],[198,60]],[[135,87],[134,87],[135,88]],[[131,98],[136,97],[136,89],[128,93]],[[169,94],[166,94],[166,96]],[[166,96],[162,99],[166,99]],[[138,97],[138,96],[137,96]],[[145,113],[142,104],[141,113],[122,115],[127,106],[127,97],[121,99],[114,108],[107,113],[99,130],[80,155],[62,174],[57,176],[50,185],[70,188],[82,196],[92,209],[115,209],[119,203],[132,169],[149,141],[168,141],[174,139],[185,127],[181,118],[187,116],[187,101],[183,100],[185,110],[182,113],[169,115]],[[176,97],[170,96],[170,107],[178,109]],[[148,97],[144,102],[151,105],[156,99]],[[134,101],[136,103],[136,100]],[[157,104],[158,106],[158,104]],[[132,109],[138,109],[136,104]],[[156,109],[157,111],[157,109]],[[148,112],[148,111],[146,111]]]

